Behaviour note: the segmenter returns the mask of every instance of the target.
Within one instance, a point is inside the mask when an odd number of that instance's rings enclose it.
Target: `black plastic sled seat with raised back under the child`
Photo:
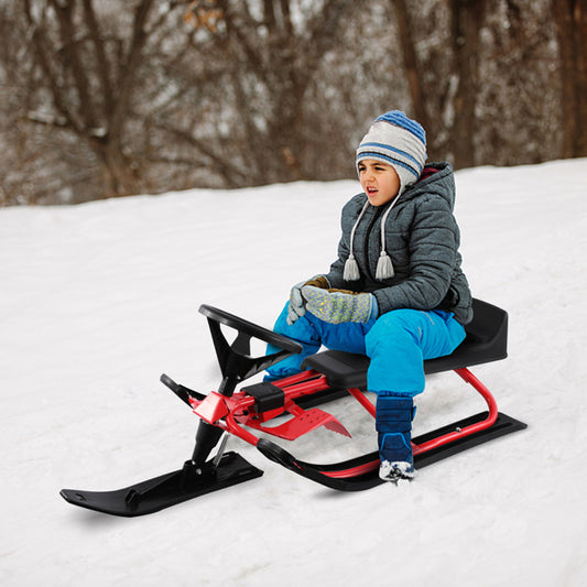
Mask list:
[[[498,306],[472,301],[474,318],[465,327],[467,336],[459,347],[446,357],[424,361],[424,372],[454,371],[475,365],[498,361],[508,356],[508,313]],[[326,350],[308,357],[304,369],[314,369],[333,388],[367,388],[369,358],[339,350]]]

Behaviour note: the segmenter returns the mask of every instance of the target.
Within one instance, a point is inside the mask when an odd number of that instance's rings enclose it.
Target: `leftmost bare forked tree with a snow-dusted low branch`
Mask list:
[[[138,162],[126,142],[153,0],[137,3],[128,40],[100,28],[93,0],[24,0],[39,73],[30,119],[83,140],[102,170],[105,196],[138,193]],[[51,104],[51,111],[43,100]]]

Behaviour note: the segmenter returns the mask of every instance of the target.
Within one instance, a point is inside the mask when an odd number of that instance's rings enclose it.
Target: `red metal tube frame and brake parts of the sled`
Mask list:
[[[414,456],[422,455],[432,449],[448,445],[455,441],[460,441],[481,431],[490,428],[498,418],[498,405],[487,387],[475,377],[467,368],[454,370],[465,382],[470,383],[475,390],[483,398],[488,406],[488,415],[485,420],[476,422],[463,428],[454,430],[438,437],[432,438],[422,444],[412,443]],[[243,426],[272,434],[285,439],[294,439],[298,436],[326,425],[330,430],[346,433],[344,426],[330,414],[322,410],[305,411],[300,407],[295,400],[305,395],[318,393],[329,388],[326,377],[314,370],[275,381],[273,383],[284,393],[284,405],[268,412],[258,412],[256,410],[256,398],[246,391],[239,391],[228,398],[216,392],[211,392],[204,400],[191,399],[189,403],[194,413],[208,424],[213,424],[239,438],[257,446],[259,438],[243,428]],[[371,414],[376,415],[376,406],[367,395],[358,388],[348,389],[348,392]],[[279,426],[263,426],[264,423],[289,413],[292,418]],[[308,415],[311,414],[311,415]],[[349,435],[348,433],[346,433]],[[350,435],[349,435],[350,436]],[[335,471],[323,471],[323,475],[331,478],[350,478],[370,472],[379,467],[379,459],[369,463]]]

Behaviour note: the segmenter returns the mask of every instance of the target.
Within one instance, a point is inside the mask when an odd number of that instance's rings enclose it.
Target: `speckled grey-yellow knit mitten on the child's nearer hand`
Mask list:
[[[377,301],[369,293],[347,293],[304,285],[302,296],[311,314],[330,324],[367,323],[377,316]]]

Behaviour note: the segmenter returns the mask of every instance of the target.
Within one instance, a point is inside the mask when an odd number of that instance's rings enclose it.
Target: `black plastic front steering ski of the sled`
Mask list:
[[[62,489],[65,501],[97,512],[134,518],[154,513],[225,487],[231,487],[261,477],[263,471],[253,467],[237,453],[226,453],[215,466],[210,460],[202,468],[186,461],[182,469],[148,479],[113,491]]]

